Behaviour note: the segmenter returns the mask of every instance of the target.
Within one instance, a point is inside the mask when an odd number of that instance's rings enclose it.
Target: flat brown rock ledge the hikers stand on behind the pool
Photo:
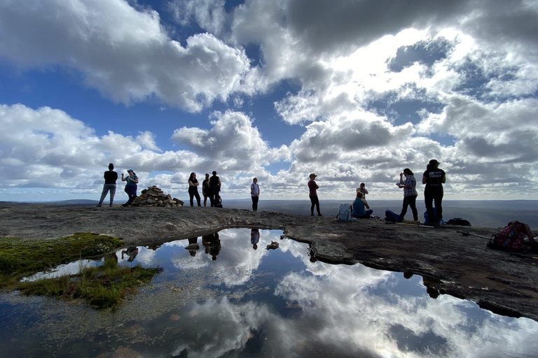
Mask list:
[[[310,244],[319,261],[427,276],[441,294],[538,321],[538,259],[491,250],[484,238],[456,232],[490,237],[497,229],[337,222],[334,217],[209,207],[0,208],[0,236],[36,240],[95,232],[121,238],[125,245],[158,245],[230,228],[281,229]]]

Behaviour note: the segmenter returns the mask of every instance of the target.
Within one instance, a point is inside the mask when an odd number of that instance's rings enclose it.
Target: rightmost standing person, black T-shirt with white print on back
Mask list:
[[[424,188],[424,203],[428,214],[428,222],[439,224],[443,219],[443,184],[446,182],[446,174],[443,169],[439,169],[439,162],[436,159],[429,161],[426,171],[422,174],[422,184]],[[435,212],[434,212],[435,204]]]

